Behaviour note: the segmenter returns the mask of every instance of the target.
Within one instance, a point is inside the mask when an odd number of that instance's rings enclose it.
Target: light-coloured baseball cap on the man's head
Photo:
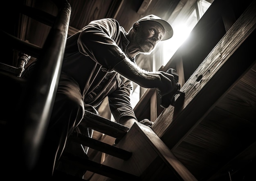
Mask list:
[[[161,41],[167,40],[167,39],[169,39],[169,38],[171,38],[173,36],[173,28],[171,27],[171,25],[167,21],[162,20],[158,16],[150,14],[148,16],[145,16],[145,17],[139,19],[137,22],[141,22],[141,21],[155,21],[155,22],[159,22],[164,27],[164,37],[162,38]]]

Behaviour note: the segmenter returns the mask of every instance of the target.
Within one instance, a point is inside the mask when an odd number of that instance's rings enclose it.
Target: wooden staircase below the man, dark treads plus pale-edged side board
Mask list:
[[[85,111],[83,121],[88,122],[90,124],[88,127],[93,130],[117,139],[114,145],[81,134],[71,136],[69,139],[108,154],[102,164],[69,153],[61,156],[61,161],[94,172],[90,180],[146,181],[153,178],[161,180],[166,177],[174,180],[196,180],[150,127],[135,123],[129,130],[128,127],[88,111]],[[61,178],[63,174],[65,173],[57,171],[54,178]]]

